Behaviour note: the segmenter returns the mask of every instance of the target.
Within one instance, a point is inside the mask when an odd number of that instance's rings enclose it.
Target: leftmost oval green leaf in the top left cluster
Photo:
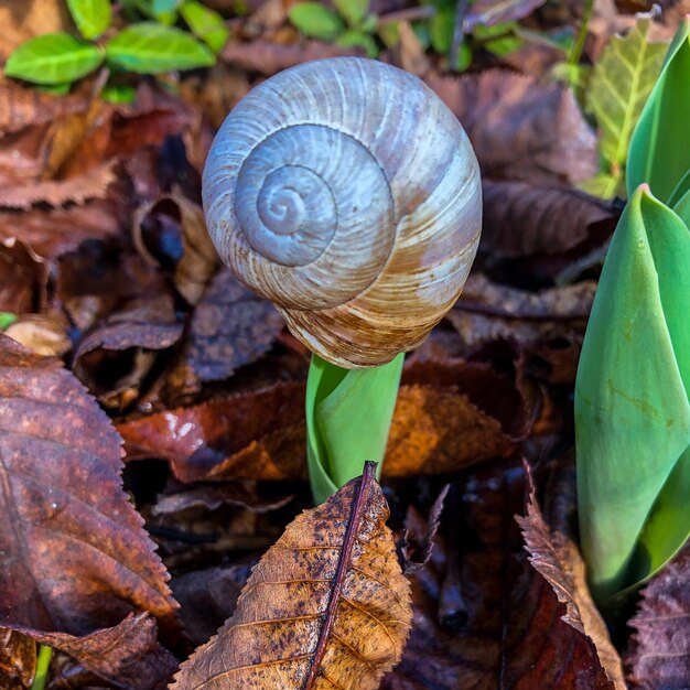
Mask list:
[[[66,33],[46,33],[22,43],[8,58],[4,74],[34,84],[64,84],[93,72],[103,51]]]

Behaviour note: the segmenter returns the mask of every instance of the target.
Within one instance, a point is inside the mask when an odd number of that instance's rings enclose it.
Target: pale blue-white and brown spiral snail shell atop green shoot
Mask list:
[[[451,309],[476,254],[481,196],[451,110],[418,77],[359,57],[254,88],[203,177],[222,260],[345,368],[417,347]]]

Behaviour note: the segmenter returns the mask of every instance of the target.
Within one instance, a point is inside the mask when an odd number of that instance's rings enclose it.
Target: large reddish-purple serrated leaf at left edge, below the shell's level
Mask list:
[[[58,360],[0,335],[0,626],[85,635],[143,610],[174,637],[168,574],[96,401]]]

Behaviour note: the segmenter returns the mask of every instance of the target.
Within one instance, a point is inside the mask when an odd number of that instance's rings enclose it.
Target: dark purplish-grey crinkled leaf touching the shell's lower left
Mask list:
[[[225,269],[196,304],[187,362],[202,381],[228,378],[237,368],[265,355],[282,327],[282,317],[273,305]]]

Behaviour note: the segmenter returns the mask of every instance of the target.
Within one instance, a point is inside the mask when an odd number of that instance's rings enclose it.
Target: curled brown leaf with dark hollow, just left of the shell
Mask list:
[[[181,194],[159,197],[134,214],[133,239],[139,254],[153,266],[174,266],[180,294],[196,304],[218,266],[204,212]],[[174,247],[175,255],[170,256]]]

